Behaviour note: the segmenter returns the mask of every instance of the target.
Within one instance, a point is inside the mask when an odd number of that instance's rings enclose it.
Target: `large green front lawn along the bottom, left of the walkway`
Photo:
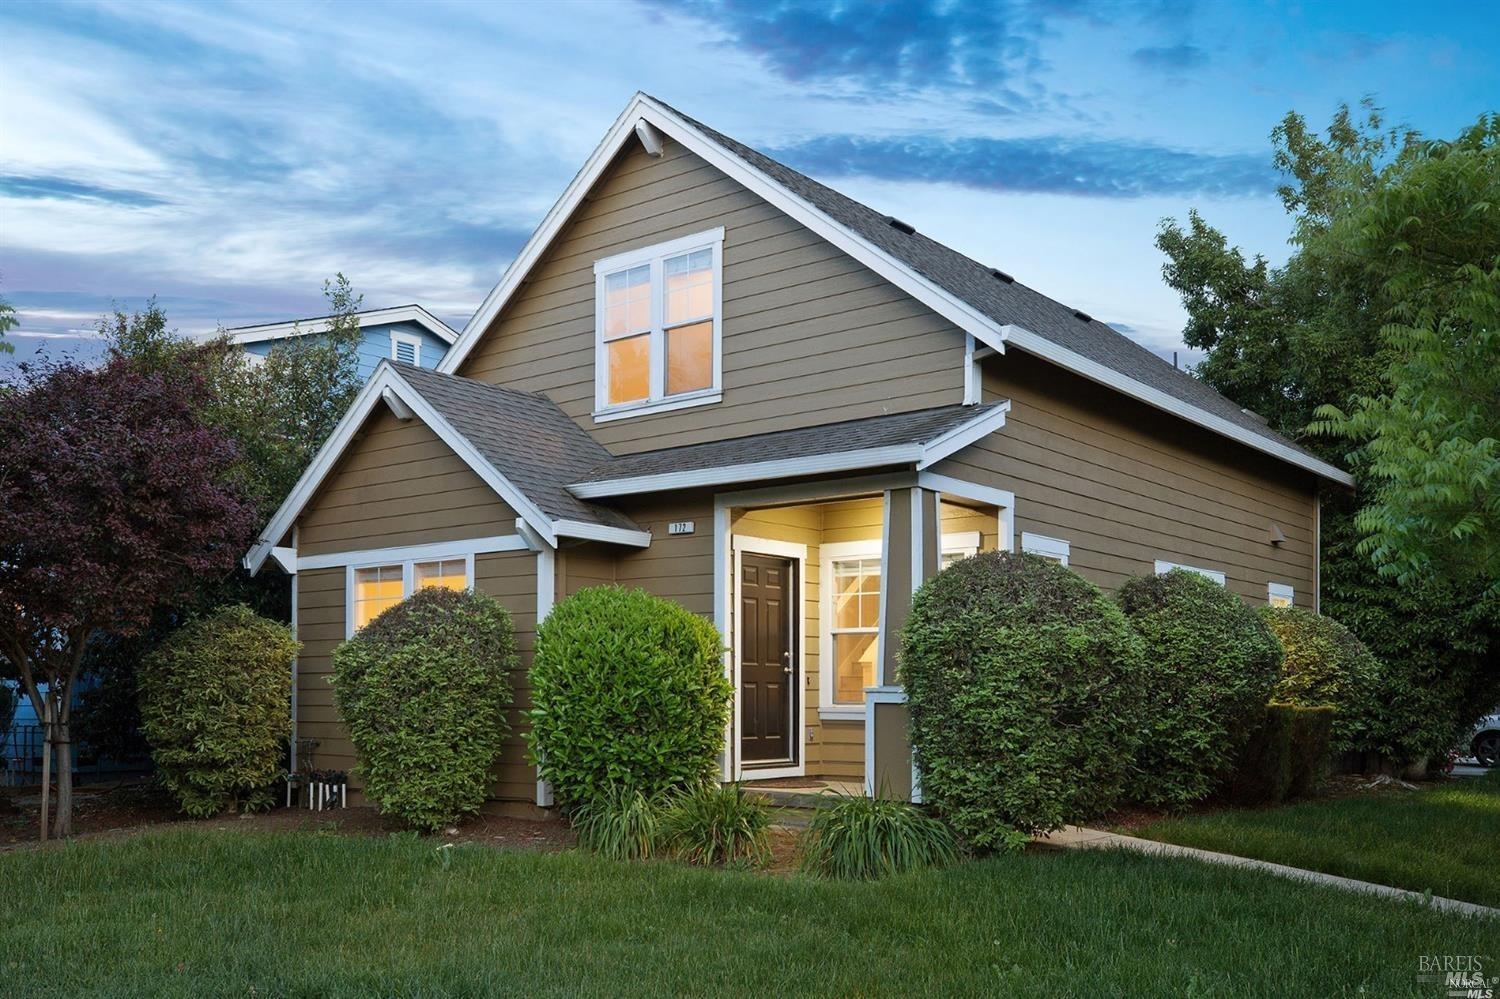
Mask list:
[[[1466,920],[1162,858],[880,884],[172,830],[0,855],[0,994],[1431,996]],[[46,968],[60,968],[46,976]]]

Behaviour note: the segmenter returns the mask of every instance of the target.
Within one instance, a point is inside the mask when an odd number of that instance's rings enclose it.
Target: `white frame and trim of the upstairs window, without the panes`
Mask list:
[[[710,250],[710,285],[712,315],[712,342],[710,345],[710,370],[712,382],[705,388],[668,394],[666,392],[666,274],[664,262],[670,256],[681,256],[696,250]],[[610,405],[609,402],[609,356],[604,339],[604,282],[610,274],[616,274],[632,267],[650,267],[648,279],[651,296],[650,327],[636,336],[650,338],[646,358],[650,363],[650,378],[646,380],[646,398],[633,402]],[[604,256],[594,261],[594,422],[608,423],[633,416],[651,412],[670,412],[687,406],[702,406],[718,402],[723,398],[723,334],[724,334],[724,228],[717,226],[693,236],[640,246],[622,254]],[[698,320],[702,322],[702,320]],[[678,322],[676,326],[686,326]],[[674,326],[672,328],[676,328]]]

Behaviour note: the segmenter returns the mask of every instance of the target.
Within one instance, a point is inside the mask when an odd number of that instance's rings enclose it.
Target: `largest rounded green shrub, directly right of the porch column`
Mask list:
[[[1018,848],[1119,798],[1142,644],[1070,568],[987,552],[922,584],[902,632],[922,800],[969,843]]]

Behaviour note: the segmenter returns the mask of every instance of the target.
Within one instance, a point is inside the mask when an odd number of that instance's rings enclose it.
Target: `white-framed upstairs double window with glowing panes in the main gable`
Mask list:
[[[723,228],[594,264],[594,418],[718,402]]]

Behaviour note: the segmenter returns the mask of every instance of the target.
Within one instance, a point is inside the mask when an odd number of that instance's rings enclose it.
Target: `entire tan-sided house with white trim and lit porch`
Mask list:
[[[724,778],[912,790],[897,632],[954,558],[1113,588],[1184,566],[1317,606],[1350,477],[1110,327],[638,94],[435,372],[381,366],[246,555],[294,573],[297,734],[423,585],[580,586],[714,621]],[[516,688],[525,699],[525,676]],[[516,729],[520,728],[516,717]],[[520,736],[494,796],[548,804]]]

